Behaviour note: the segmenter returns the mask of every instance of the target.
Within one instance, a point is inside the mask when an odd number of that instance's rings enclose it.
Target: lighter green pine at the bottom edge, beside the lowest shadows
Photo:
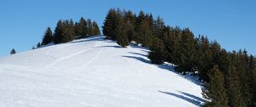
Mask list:
[[[209,71],[210,82],[205,83],[202,88],[204,98],[210,100],[204,106],[206,107],[229,107],[228,97],[224,88],[224,75],[215,65]]]

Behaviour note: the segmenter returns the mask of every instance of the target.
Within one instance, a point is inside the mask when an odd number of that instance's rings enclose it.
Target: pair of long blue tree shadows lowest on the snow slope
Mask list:
[[[179,99],[183,99],[183,100],[185,100],[185,101],[187,101],[187,102],[189,102],[191,104],[195,104],[197,106],[201,106],[201,100],[195,99],[195,98],[198,98],[198,97],[196,97],[194,95],[189,94],[189,96],[188,96],[188,94],[183,94],[183,93],[182,94],[177,94],[177,93],[169,93],[169,92],[163,92],[163,91],[159,91],[159,92],[171,95],[171,96],[179,98]]]

